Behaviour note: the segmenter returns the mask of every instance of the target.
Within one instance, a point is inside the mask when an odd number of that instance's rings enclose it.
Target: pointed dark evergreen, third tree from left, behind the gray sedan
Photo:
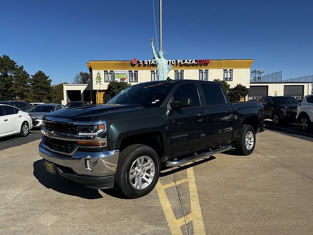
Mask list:
[[[51,79],[43,71],[31,75],[29,99],[33,102],[50,102]]]

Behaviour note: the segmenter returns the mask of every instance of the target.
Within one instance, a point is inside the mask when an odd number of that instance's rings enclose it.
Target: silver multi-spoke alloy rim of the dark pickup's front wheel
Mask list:
[[[147,188],[155,176],[156,166],[148,156],[137,158],[129,172],[129,180],[135,189]]]

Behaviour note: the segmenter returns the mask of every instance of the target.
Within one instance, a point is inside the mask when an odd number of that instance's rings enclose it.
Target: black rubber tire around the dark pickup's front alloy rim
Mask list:
[[[134,186],[131,183],[130,171],[132,166],[134,166],[133,164],[135,164],[135,161],[142,156],[148,157],[153,161],[153,164],[155,166],[153,170],[154,177],[150,185],[146,186],[146,188],[137,189],[134,188]],[[134,168],[132,169],[134,170]],[[149,174],[152,173],[151,171],[152,169],[150,169]],[[146,173],[148,173],[148,170]],[[134,175],[135,174],[137,173],[134,172]],[[121,194],[128,198],[142,197],[147,195],[149,192],[152,191],[153,188],[155,188],[159,175],[160,175],[160,159],[156,151],[151,147],[143,144],[130,145],[127,148],[123,149],[119,155],[117,169],[115,173],[115,187]],[[141,177],[142,175],[139,176],[138,179],[141,182],[144,181],[147,183],[147,181],[145,181],[145,176],[143,178]],[[136,179],[136,176],[132,180],[134,179]],[[149,177],[147,179],[149,179]]]

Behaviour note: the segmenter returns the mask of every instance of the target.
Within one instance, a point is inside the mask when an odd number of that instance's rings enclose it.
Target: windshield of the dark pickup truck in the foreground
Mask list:
[[[115,95],[108,104],[140,104],[146,107],[159,106],[173,83],[162,82],[153,84],[140,84],[126,88]]]

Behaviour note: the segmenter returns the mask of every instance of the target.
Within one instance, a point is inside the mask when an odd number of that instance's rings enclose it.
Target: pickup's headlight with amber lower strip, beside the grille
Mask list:
[[[78,122],[76,140],[84,146],[106,146],[107,129],[105,121]]]

